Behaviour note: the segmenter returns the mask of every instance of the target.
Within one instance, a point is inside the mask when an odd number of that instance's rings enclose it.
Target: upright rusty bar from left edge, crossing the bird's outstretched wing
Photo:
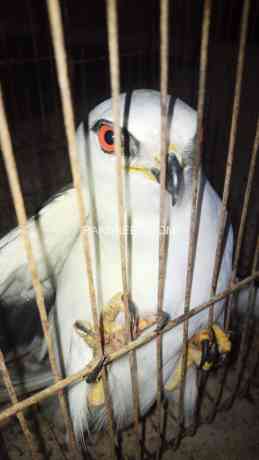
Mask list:
[[[47,316],[46,306],[45,306],[45,301],[44,301],[43,289],[40,283],[38,270],[37,270],[37,264],[36,264],[36,260],[33,255],[32,245],[31,245],[30,238],[29,238],[25,205],[23,201],[19,177],[17,174],[17,168],[16,168],[16,162],[15,162],[14,153],[13,153],[13,147],[11,143],[10,132],[9,132],[9,128],[8,128],[8,124],[6,120],[5,111],[4,111],[4,101],[3,101],[1,87],[0,87],[0,142],[2,146],[3,158],[4,158],[5,167],[6,167],[8,180],[9,180],[9,184],[11,188],[11,193],[13,197],[13,202],[15,206],[16,216],[17,216],[17,220],[20,226],[21,238],[22,238],[22,242],[24,245],[26,255],[27,255],[28,268],[31,273],[32,284],[35,290],[36,301],[37,301],[37,306],[39,309],[42,329],[43,329],[44,337],[46,339],[46,343],[48,347],[50,365],[51,365],[52,373],[54,376],[54,380],[58,381],[60,379],[60,374],[59,374],[58,367],[56,364],[54,348],[53,348],[53,341],[49,333],[49,323],[48,323],[48,316]],[[70,422],[70,418],[69,418],[68,411],[67,411],[65,397],[62,392],[59,393],[59,401],[60,401],[60,406],[61,406],[61,410],[64,416],[66,426],[69,429],[70,445],[71,445],[71,448],[73,449],[76,446],[76,443],[75,443],[73,431],[71,428],[71,422]]]

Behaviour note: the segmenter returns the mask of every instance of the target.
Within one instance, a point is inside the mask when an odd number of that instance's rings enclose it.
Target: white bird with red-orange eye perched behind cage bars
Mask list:
[[[160,94],[136,90],[121,95],[120,102],[127,222],[132,229],[127,257],[130,297],[139,316],[145,318],[157,312],[160,185],[154,178],[159,171]],[[168,97],[168,103],[172,107],[169,123],[171,163],[168,163],[171,184],[168,187],[170,193],[166,195],[169,233],[163,309],[170,318],[176,318],[184,311],[197,121],[196,112],[181,100],[170,102]],[[83,123],[79,126],[77,146],[101,310],[114,294],[122,291],[111,100],[101,103],[90,113],[89,127],[85,128]],[[207,301],[210,296],[221,206],[218,195],[203,176],[191,308]],[[48,304],[54,302],[55,296],[56,327],[64,372],[71,375],[84,368],[93,357],[92,348],[74,328],[76,321],[92,322],[74,189],[60,193],[43,207],[37,218],[30,220],[29,232]],[[232,249],[230,227],[217,292],[228,286]],[[28,308],[31,311],[34,302],[31,277],[17,229],[0,241],[0,272],[1,311],[5,311],[11,331],[13,320]],[[222,308],[222,302],[215,306],[215,318],[219,324]],[[207,321],[208,311],[194,316],[189,322],[189,336],[206,327]],[[15,327],[13,330],[15,332]],[[182,337],[182,326],[163,337],[164,383],[176,368]],[[31,338],[28,336],[27,341]],[[136,356],[140,410],[144,414],[156,397],[156,342],[138,349]],[[197,397],[196,374],[194,367],[188,369],[185,387],[187,416],[192,414]],[[133,403],[128,357],[114,362],[109,368],[109,386],[117,426],[129,424]],[[98,426],[105,421],[103,409],[91,411],[87,402],[89,389],[86,381],[68,389],[70,413],[78,437],[88,429],[91,418],[95,418]]]

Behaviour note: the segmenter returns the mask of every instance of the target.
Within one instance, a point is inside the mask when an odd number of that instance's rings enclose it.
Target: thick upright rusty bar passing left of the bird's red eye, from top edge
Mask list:
[[[92,270],[92,258],[91,258],[91,250],[90,250],[90,241],[88,238],[88,232],[85,231],[86,225],[86,212],[85,212],[85,205],[84,205],[84,198],[81,188],[81,179],[80,179],[80,170],[79,164],[77,159],[77,148],[76,148],[76,137],[75,137],[75,121],[74,121],[74,113],[73,113],[73,106],[72,106],[72,97],[71,97],[71,89],[69,84],[69,76],[68,76],[68,66],[66,60],[66,52],[65,52],[65,43],[64,43],[64,33],[62,27],[62,20],[61,20],[61,11],[60,5],[58,0],[47,0],[48,6],[48,15],[49,15],[49,22],[53,40],[53,47],[56,59],[56,67],[57,67],[57,76],[58,76],[58,83],[60,88],[60,95],[62,101],[62,110],[63,110],[63,117],[65,123],[65,131],[68,143],[68,153],[70,159],[70,165],[72,170],[72,177],[73,177],[73,185],[76,190],[77,194],[77,204],[78,204],[78,211],[79,211],[79,221],[80,221],[80,235],[82,238],[83,243],[83,253],[85,258],[85,268],[86,268],[86,281],[89,289],[89,296],[91,301],[91,310],[92,310],[92,317],[94,323],[94,329],[98,337],[98,347],[99,347],[99,354],[102,354],[102,336],[101,330],[99,327],[99,319],[98,319],[98,312],[97,312],[97,301],[96,301],[96,292],[94,286],[94,278],[93,278],[93,270]],[[112,420],[112,407],[111,401],[109,397],[109,388],[108,388],[108,380],[105,369],[102,371],[102,380],[104,386],[104,393],[105,393],[105,406],[108,415],[108,427],[111,434],[111,456],[112,458],[116,458],[115,453],[115,437],[113,433],[113,420]]]

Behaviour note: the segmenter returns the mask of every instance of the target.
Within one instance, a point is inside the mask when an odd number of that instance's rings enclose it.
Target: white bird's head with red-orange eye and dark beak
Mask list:
[[[159,195],[160,93],[136,90],[122,94],[120,101],[121,144],[126,177],[132,189],[138,185],[143,186],[141,195],[144,190]],[[172,204],[175,204],[184,188],[185,171],[192,166],[197,120],[195,110],[181,100],[168,96],[167,103],[167,190]],[[95,182],[99,184],[97,187],[101,186],[103,194],[107,195],[116,186],[111,99],[104,101],[90,113],[88,143],[87,150],[91,154],[86,164],[87,169],[92,169]]]

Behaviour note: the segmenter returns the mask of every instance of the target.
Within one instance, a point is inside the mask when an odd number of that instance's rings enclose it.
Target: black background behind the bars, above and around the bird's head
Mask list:
[[[105,2],[63,0],[62,14],[77,122],[110,95]],[[121,89],[159,89],[159,2],[120,0]],[[169,91],[197,103],[203,2],[170,2]],[[213,2],[203,164],[222,194],[243,1]],[[259,2],[251,2],[229,210],[237,231],[259,106]],[[1,4],[0,78],[29,215],[71,181],[44,0]],[[247,274],[259,232],[259,167],[239,273]],[[0,235],[16,225],[0,160]]]

